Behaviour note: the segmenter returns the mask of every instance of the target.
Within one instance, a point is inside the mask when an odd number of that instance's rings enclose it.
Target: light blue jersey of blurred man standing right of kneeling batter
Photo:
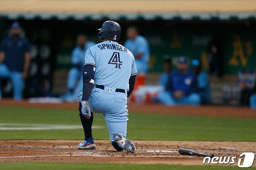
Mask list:
[[[135,59],[138,73],[145,74],[148,69],[148,62],[150,57],[149,44],[141,35],[137,35],[135,40],[128,39],[124,42],[124,46],[129,49],[134,56],[137,56],[140,53],[143,53],[143,56],[140,59]]]

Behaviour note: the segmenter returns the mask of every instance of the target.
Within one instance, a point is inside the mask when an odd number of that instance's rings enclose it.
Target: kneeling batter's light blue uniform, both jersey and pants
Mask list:
[[[111,142],[112,136],[116,133],[125,138],[129,79],[131,75],[137,74],[132,52],[117,42],[105,41],[90,47],[84,58],[85,65],[95,66],[94,88],[88,101],[91,111],[103,113]],[[104,89],[97,88],[96,85],[103,85]],[[126,92],[118,92],[116,88],[124,89]],[[82,93],[78,97],[81,102]]]

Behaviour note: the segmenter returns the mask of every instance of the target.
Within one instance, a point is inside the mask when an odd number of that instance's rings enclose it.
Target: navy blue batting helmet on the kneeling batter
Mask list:
[[[98,29],[99,38],[108,38],[110,40],[118,41],[121,36],[121,27],[115,21],[106,21],[102,24],[102,27]]]

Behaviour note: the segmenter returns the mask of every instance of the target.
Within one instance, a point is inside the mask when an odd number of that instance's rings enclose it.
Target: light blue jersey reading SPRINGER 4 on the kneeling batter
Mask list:
[[[128,91],[130,76],[137,74],[132,52],[113,41],[105,41],[90,47],[85,54],[85,64],[95,66],[94,85]]]

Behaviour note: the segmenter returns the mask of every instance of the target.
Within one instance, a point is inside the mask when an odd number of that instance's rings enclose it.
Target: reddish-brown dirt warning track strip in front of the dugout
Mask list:
[[[30,103],[28,101],[12,101],[10,99],[0,100],[2,106],[24,106],[37,108],[61,108],[77,109],[77,102],[63,102],[60,104],[51,103]],[[135,104],[128,103],[130,112],[135,113],[153,113],[153,114],[179,114],[179,115],[200,115],[200,116],[225,116],[256,118],[256,110],[248,107],[231,107],[231,106],[164,106],[161,104]]]

